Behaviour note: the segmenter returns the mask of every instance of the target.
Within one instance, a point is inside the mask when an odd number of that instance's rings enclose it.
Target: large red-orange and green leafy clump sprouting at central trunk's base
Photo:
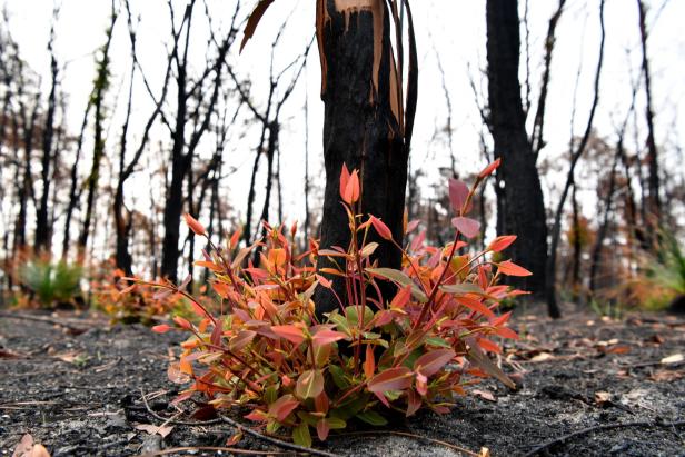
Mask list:
[[[241,249],[239,232],[225,248],[212,246],[196,264],[214,272],[214,310],[180,290],[191,300],[196,321],[177,316],[173,326],[153,328],[189,335],[180,360],[169,368],[172,381],[188,386],[179,400],[201,394],[217,409],[249,408],[245,417],[267,431],[287,428],[297,444],[310,446],[314,433],[325,440],[350,420],[384,425],[390,414],[446,413],[455,395],[466,394],[468,375],[514,387],[487,352],[502,351],[498,338],[517,338],[506,326],[510,314],[498,316],[496,308],[523,292],[498,280],[530,272],[492,260],[515,236],[498,237],[483,250],[466,249],[479,234],[478,222],[467,217],[474,191],[497,166],[488,166],[470,189],[450,181],[455,236],[444,247],[426,246],[425,232],[400,246],[380,219],[358,213],[359,178],[347,168],[340,177],[353,235],[347,249],[320,249],[311,241],[308,250],[297,251],[296,227],[286,232],[282,226],[267,226],[266,239]],[[207,236],[197,220],[186,220],[195,234]],[[406,223],[405,231],[416,228],[417,222]],[[401,269],[371,260],[378,247],[368,240],[371,230],[401,250]],[[257,266],[250,257],[258,247]],[[317,271],[324,257],[337,268]],[[336,294],[339,308],[319,319],[314,291],[334,290],[334,281],[341,281],[346,294]],[[156,286],[178,291],[169,284]]]

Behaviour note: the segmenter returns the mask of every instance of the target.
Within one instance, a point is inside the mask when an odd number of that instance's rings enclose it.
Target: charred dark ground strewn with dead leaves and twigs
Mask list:
[[[315,447],[341,456],[478,455],[484,447],[493,456],[685,456],[685,317],[543,315],[514,320],[522,340],[502,358],[522,375],[520,389],[487,380],[448,415],[424,413]],[[1,311],[0,456],[22,437],[53,457],[297,454],[249,430],[229,445],[231,425],[200,424],[171,406],[177,386],[166,370],[178,338],[93,315]]]

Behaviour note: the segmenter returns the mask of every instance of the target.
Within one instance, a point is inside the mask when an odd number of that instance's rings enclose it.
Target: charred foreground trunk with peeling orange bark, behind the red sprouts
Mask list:
[[[367,7],[360,8],[340,6],[340,9],[336,7],[338,3],[319,0],[317,6],[326,167],[320,247],[347,248],[350,242],[347,215],[339,196],[344,163],[360,172],[359,212],[381,218],[395,240],[401,242],[415,87],[414,91],[408,90],[408,115],[404,119],[403,100],[397,97],[401,91],[396,83],[390,14],[385,1],[364,2]],[[410,23],[409,40],[415,51]],[[415,68],[411,71],[410,64],[409,86],[413,76],[416,77]],[[373,240],[380,245],[374,260],[383,267],[400,268],[401,252],[378,237]],[[321,257],[317,268],[324,267],[331,267],[331,262]],[[344,282],[339,278],[330,279],[336,292],[346,297]],[[319,316],[338,307],[332,292],[326,288],[317,289],[315,302]]]

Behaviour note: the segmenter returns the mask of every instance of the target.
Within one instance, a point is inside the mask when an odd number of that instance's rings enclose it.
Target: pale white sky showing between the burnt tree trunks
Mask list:
[[[685,1],[671,0],[662,9],[664,0],[653,0],[648,20],[655,24],[649,37],[649,53],[653,73],[654,106],[656,111],[657,141],[659,143],[683,145],[679,132],[685,129],[685,34],[682,33],[682,20],[685,18]],[[91,90],[95,76],[92,53],[105,40],[105,28],[109,23],[109,0],[61,0],[59,22],[57,24],[57,56],[61,64],[68,62],[61,74],[62,90],[69,95],[68,121],[72,132],[78,132],[82,110]],[[183,1],[176,1],[178,11],[182,10]],[[208,0],[212,11],[215,28],[221,21],[228,21],[232,8],[228,1]],[[251,6],[254,1],[246,1]],[[523,10],[523,0],[519,7]],[[49,58],[46,50],[52,0],[0,0],[10,14],[10,27],[13,38],[20,46],[22,57],[38,73],[48,74]],[[530,24],[530,72],[533,105],[539,91],[539,74],[542,73],[542,57],[547,21],[557,2],[553,0],[529,0]],[[237,54],[237,46],[230,56],[241,74],[252,80],[252,95],[257,103],[265,96],[268,83],[268,60],[270,43],[284,18],[291,14],[286,36],[281,41],[276,67],[282,67],[292,60],[305,47],[314,33],[314,6],[311,0],[279,0],[267,12],[255,38],[241,56]],[[479,152],[480,118],[474,95],[469,86],[473,78],[482,87],[482,96],[487,96],[487,80],[482,76],[485,70],[485,1],[484,0],[414,0],[411,2],[419,52],[419,101],[416,130],[413,141],[413,166],[421,167],[427,172],[424,185],[438,179],[438,168],[449,166],[449,151],[446,138],[436,129],[444,130],[447,119],[447,107],[437,70],[437,57],[445,69],[446,85],[453,103],[454,153],[457,168],[474,171],[485,162]],[[592,85],[594,80],[599,42],[598,28],[599,0],[568,0],[566,11],[557,28],[557,43],[554,53],[552,82],[549,87],[548,110],[546,120],[547,147],[540,159],[558,158],[567,150],[570,133],[570,112],[573,107],[576,73],[580,66],[578,83],[576,135],[584,129],[592,101]],[[149,80],[160,83],[165,64],[165,43],[169,37],[169,14],[166,1],[131,0],[135,13],[140,14],[139,50]],[[198,18],[193,23],[196,34],[192,38],[195,56],[198,64],[203,62],[207,23],[203,19],[202,2],[196,7]],[[655,17],[661,10],[658,19]],[[181,14],[180,12],[178,13]],[[637,4],[634,0],[606,1],[606,51],[605,71],[602,78],[602,98],[596,117],[596,128],[602,136],[610,141],[614,138],[614,126],[623,119],[629,105],[631,78],[637,74],[642,59],[639,48],[639,31],[637,22]],[[522,31],[522,44],[524,36]],[[522,49],[523,52],[523,49]],[[115,151],[121,125],[122,110],[126,105],[129,71],[129,41],[126,14],[121,14],[116,27],[112,44],[112,89],[109,103],[112,108],[112,121],[108,143]],[[525,56],[522,56],[522,79],[525,77]],[[316,46],[309,56],[306,80],[299,83],[296,92],[288,101],[282,116],[281,150],[282,160],[287,162],[284,172],[284,198],[288,210],[288,220],[304,220],[302,180],[304,171],[304,137],[305,123],[302,106],[305,91],[309,100],[309,147],[311,153],[311,176],[315,186],[324,185],[321,173],[321,126],[322,102],[319,98],[319,62]],[[123,86],[121,85],[123,82]],[[260,88],[264,88],[260,90]],[[150,112],[149,97],[141,87],[137,87],[137,110],[133,116],[140,121]],[[484,99],[480,101],[483,102]],[[643,121],[644,92],[637,100],[639,121]],[[133,122],[133,126],[136,123]],[[139,126],[138,126],[139,127]],[[242,127],[239,127],[242,128]],[[234,207],[244,215],[247,199],[247,185],[257,135],[248,131],[242,140],[236,140],[229,148],[225,161],[227,167],[237,167],[238,171],[225,183],[224,198],[230,199]],[[140,135],[133,128],[131,138]],[[631,133],[632,135],[632,133]],[[644,143],[646,130],[641,127]],[[156,131],[156,139],[168,141],[168,132],[163,128]],[[433,138],[433,140],[431,140]],[[633,148],[633,143],[629,143]],[[673,149],[673,147],[672,147]],[[145,159],[142,161],[145,163]],[[565,160],[554,160],[556,168],[566,170]],[[682,167],[676,157],[665,157],[663,167]],[[261,167],[264,170],[265,166]],[[145,180],[132,181],[132,186],[145,185]],[[548,176],[545,186],[554,185],[559,175]],[[258,183],[264,178],[258,179]],[[557,183],[558,186],[558,183]],[[262,185],[258,185],[261,188]],[[136,197],[142,208],[147,207],[147,192],[127,189],[129,203]],[[590,188],[588,192],[593,192]],[[160,189],[161,192],[161,189]],[[159,192],[158,192],[159,193]],[[161,196],[161,193],[159,193]],[[547,195],[549,199],[550,196]],[[556,198],[556,197],[552,197]],[[257,207],[261,207],[261,197],[257,198]],[[552,202],[556,206],[556,201]],[[550,202],[547,201],[550,207]],[[595,210],[588,205],[587,213]],[[272,211],[275,213],[275,211]]]

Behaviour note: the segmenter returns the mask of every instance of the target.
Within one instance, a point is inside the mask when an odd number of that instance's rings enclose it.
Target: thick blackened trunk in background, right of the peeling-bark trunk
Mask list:
[[[498,216],[497,229],[500,235],[518,236],[508,255],[534,272],[533,276],[512,280],[512,285],[540,296],[545,290],[547,225],[543,190],[520,98],[517,2],[488,0],[486,19],[489,123],[495,140],[495,158],[502,158],[497,170],[497,209],[503,210],[504,215]]]

